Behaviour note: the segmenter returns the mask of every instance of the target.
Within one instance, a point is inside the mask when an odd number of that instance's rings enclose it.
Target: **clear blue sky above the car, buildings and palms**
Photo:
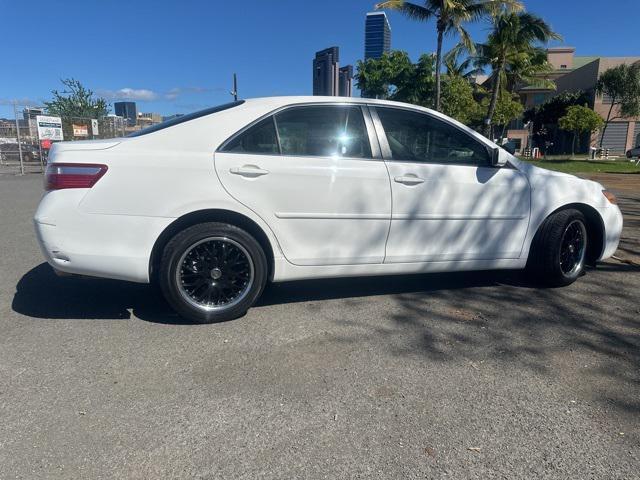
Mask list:
[[[419,1],[419,0],[418,0]],[[340,47],[341,65],[363,56],[375,0],[0,0],[0,117],[11,101],[40,102],[74,77],[110,103],[184,113],[241,97],[311,93],[314,52]],[[577,55],[640,56],[640,0],[525,0]],[[605,6],[603,6],[605,5]],[[621,14],[621,12],[624,12]],[[434,24],[389,13],[392,48],[435,50]],[[477,40],[487,25],[469,27]],[[448,45],[452,45],[452,39]]]

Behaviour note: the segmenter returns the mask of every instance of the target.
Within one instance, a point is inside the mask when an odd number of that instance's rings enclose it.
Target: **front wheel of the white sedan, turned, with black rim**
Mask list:
[[[574,209],[549,216],[533,239],[527,269],[551,287],[570,285],[584,272],[587,228],[584,215]]]

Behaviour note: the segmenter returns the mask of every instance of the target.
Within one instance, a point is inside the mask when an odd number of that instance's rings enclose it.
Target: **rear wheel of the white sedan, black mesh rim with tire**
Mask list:
[[[260,244],[225,223],[183,230],[164,248],[159,284],[167,302],[197,323],[238,318],[255,303],[267,281]]]

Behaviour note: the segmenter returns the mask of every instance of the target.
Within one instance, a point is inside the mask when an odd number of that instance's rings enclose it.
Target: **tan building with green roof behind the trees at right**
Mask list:
[[[590,107],[598,112],[602,118],[607,118],[611,102],[595,93],[596,83],[600,75],[606,70],[623,63],[640,62],[640,57],[584,57],[576,56],[573,47],[556,47],[547,50],[547,59],[553,66],[553,71],[546,77],[556,84],[556,89],[523,87],[518,90],[525,109],[540,105],[548,99],[562,92],[582,90],[590,98]],[[615,116],[615,109],[614,114]],[[600,144],[600,133],[594,133],[592,146]],[[520,139],[521,150],[526,148],[529,132],[526,129],[510,129],[507,133],[510,139]],[[624,153],[628,149],[640,144],[640,117],[619,118],[609,124],[605,132],[603,148],[611,153]]]

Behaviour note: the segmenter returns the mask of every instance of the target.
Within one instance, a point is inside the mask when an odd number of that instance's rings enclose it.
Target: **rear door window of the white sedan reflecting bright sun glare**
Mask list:
[[[283,155],[371,158],[369,136],[358,106],[293,107],[275,118]]]

